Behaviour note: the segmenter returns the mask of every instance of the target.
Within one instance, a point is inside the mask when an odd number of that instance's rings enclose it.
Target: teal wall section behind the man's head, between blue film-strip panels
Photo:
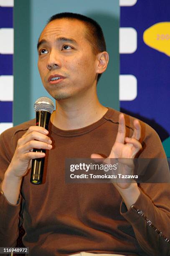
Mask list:
[[[97,85],[99,100],[119,110],[119,0],[15,0],[14,125],[35,117],[38,97],[50,97],[38,73],[36,44],[48,18],[60,12],[82,13],[101,25],[110,61]]]

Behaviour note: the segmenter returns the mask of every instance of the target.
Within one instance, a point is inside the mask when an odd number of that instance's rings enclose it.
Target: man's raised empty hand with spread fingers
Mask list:
[[[115,143],[112,147],[112,150],[108,156],[108,160],[112,158],[123,158],[123,159],[133,159],[134,156],[140,151],[142,148],[141,143],[139,142],[140,136],[141,136],[141,127],[140,123],[137,119],[134,120],[134,131],[131,138],[125,137],[126,135],[126,128],[125,128],[125,120],[124,120],[124,114],[119,115],[119,126],[118,126],[118,133],[116,136]],[[103,158],[99,154],[92,154],[91,158]],[[106,159],[106,160],[107,160]],[[123,174],[132,174],[132,166],[128,166],[123,164],[124,170]],[[119,190],[120,189],[127,189],[130,187],[132,183],[114,183],[114,186]]]

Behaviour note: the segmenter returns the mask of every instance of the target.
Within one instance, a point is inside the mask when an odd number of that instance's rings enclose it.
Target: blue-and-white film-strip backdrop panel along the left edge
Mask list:
[[[0,133],[13,126],[13,1],[0,0]]]

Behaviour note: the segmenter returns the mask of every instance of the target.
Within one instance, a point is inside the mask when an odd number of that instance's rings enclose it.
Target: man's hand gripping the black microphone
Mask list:
[[[30,169],[32,159],[42,158],[45,153],[33,152],[33,148],[51,149],[51,139],[48,131],[40,126],[30,126],[28,131],[18,140],[13,158],[8,166],[7,173],[21,179]]]

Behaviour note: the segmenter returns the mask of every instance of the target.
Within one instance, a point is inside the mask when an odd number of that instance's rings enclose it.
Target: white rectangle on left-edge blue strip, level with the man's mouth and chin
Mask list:
[[[0,101],[13,101],[13,76],[0,76]]]

